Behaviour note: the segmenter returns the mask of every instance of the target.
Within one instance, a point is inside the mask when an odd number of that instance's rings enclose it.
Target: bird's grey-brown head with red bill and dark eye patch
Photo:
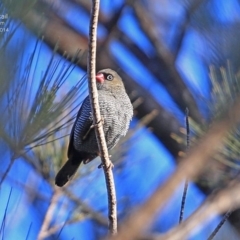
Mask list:
[[[124,85],[122,78],[112,69],[103,69],[96,74],[98,90],[122,90]]]

